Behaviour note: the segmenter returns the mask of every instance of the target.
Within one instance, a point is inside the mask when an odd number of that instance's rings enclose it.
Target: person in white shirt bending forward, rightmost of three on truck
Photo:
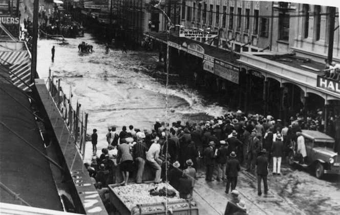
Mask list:
[[[158,142],[154,142],[150,149],[146,152],[146,161],[156,170],[156,177],[154,183],[161,182],[161,165],[163,161],[159,159],[159,153],[161,151],[161,146],[164,144],[163,139],[159,139]]]

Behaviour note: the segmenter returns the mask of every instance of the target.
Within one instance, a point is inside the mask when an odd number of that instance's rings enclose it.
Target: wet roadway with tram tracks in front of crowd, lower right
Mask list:
[[[216,175],[215,175],[216,176]],[[226,182],[205,181],[199,173],[194,200],[203,214],[224,214],[230,194],[225,194]],[[281,176],[268,176],[268,195],[257,195],[257,178],[242,168],[236,189],[245,201],[249,214],[339,214],[340,176],[329,175],[320,180],[305,170],[282,167]],[[263,183],[262,183],[263,189]]]

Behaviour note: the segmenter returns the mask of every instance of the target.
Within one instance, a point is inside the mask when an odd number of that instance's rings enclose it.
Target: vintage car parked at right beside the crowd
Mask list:
[[[288,162],[290,165],[298,164],[310,169],[316,178],[324,174],[340,174],[340,156],[334,152],[335,140],[319,131],[302,130],[305,137],[307,157],[301,164],[293,147],[289,149]]]

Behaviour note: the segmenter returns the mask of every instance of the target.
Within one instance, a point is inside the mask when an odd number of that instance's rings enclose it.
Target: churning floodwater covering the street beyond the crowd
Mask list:
[[[78,52],[82,41],[92,44],[94,53]],[[90,35],[67,39],[68,45],[60,40],[38,40],[37,71],[39,77],[47,80],[52,75],[60,79],[64,92],[73,92],[73,104],[79,100],[82,110],[89,113],[88,133],[98,130],[98,144],[106,144],[107,128],[133,125],[135,128],[151,129],[159,118],[165,122],[166,88],[153,74],[165,79],[166,74],[155,52],[110,50],[106,53],[104,44],[96,43]],[[55,45],[54,62],[51,49]],[[172,79],[172,76],[169,77]],[[171,85],[168,89],[168,122],[211,120],[223,115],[226,108],[216,104],[205,104],[202,95],[186,86]]]

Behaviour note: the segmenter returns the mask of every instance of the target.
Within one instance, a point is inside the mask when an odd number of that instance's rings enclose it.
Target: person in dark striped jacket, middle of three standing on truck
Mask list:
[[[143,139],[138,139],[137,144],[133,147],[133,155],[134,160],[137,164],[137,175],[136,175],[136,183],[142,183],[142,177],[144,172],[144,165],[145,165],[145,152],[146,152],[146,145],[143,142]]]

